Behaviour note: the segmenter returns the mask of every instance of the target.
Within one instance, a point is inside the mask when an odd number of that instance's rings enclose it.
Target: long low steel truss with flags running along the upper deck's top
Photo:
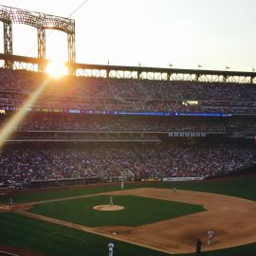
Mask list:
[[[37,71],[35,66],[46,66],[48,60],[0,53],[1,63],[12,63],[15,69]],[[4,65],[2,65],[4,66]],[[1,65],[0,65],[1,67]],[[135,79],[187,82],[235,82],[256,84],[256,72],[157,68],[106,64],[72,64],[74,74],[82,77]]]

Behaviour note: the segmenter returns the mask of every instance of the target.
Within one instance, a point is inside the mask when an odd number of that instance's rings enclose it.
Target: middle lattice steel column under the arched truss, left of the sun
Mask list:
[[[37,47],[38,47],[38,72],[45,73],[46,72],[46,29],[45,28],[37,28]]]

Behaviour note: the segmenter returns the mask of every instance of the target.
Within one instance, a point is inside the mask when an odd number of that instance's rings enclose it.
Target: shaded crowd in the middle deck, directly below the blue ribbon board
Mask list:
[[[0,128],[9,116],[0,115]],[[143,118],[112,117],[95,115],[28,115],[16,131],[87,131],[87,132],[209,132],[225,133],[223,119],[182,119],[182,118]]]

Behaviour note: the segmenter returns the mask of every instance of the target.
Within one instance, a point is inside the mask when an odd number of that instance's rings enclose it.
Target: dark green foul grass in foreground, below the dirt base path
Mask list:
[[[137,247],[120,241],[115,244],[114,255],[124,256],[168,256],[159,251]],[[15,213],[0,213],[0,244],[26,248],[49,256],[103,256],[108,255],[108,238],[68,229]],[[204,249],[204,247],[203,247]],[[202,256],[255,256],[256,243],[244,247],[203,252]],[[178,254],[178,256],[193,256]],[[173,254],[177,256],[177,254]]]

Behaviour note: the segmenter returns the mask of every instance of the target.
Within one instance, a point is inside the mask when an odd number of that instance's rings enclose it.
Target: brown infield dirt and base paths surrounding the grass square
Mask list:
[[[237,181],[235,180],[235,182]],[[210,186],[212,186],[214,183],[216,183],[214,184],[216,187],[218,186],[218,182],[212,181],[208,183]],[[229,182],[226,180],[222,181],[221,183],[227,183],[229,186]],[[120,191],[117,188],[118,191],[116,192],[101,192],[101,194],[93,193],[92,195],[87,194],[84,196],[73,196],[71,198],[65,197],[61,199],[39,201],[38,203],[19,203],[16,205],[16,209],[12,210],[13,212],[11,214],[15,213],[21,216],[29,217],[31,219],[44,221],[49,224],[58,224],[67,228],[101,235],[106,239],[112,239],[113,241],[130,243],[135,246],[145,247],[148,249],[156,249],[163,253],[171,253],[174,255],[180,253],[192,253],[194,249],[194,237],[201,237],[203,242],[203,251],[214,251],[216,249],[237,247],[255,242],[255,222],[253,221],[254,212],[256,209],[255,202],[238,197],[209,192],[193,192],[179,189],[176,193],[174,193],[169,188],[164,189],[164,187],[166,187],[166,183],[159,183],[157,185],[160,188],[143,188],[143,184],[141,184],[138,186],[142,186],[142,188],[138,189],[129,188],[127,190]],[[187,185],[188,183],[184,184],[184,186]],[[129,185],[127,186],[129,187]],[[180,184],[179,186],[182,185]],[[96,191],[98,189],[99,187],[95,188]],[[44,194],[44,192],[40,191],[37,193]],[[18,192],[17,195],[19,194],[20,193]],[[23,193],[24,199],[26,199],[26,195],[26,193]],[[124,198],[128,196],[128,198],[132,199],[131,201],[134,201],[135,206],[137,202],[136,200],[133,200],[134,196],[136,196],[135,198],[145,198],[147,200],[153,199],[158,201],[163,200],[162,202],[179,202],[185,204],[189,203],[193,205],[201,205],[204,207],[204,210],[201,212],[195,212],[171,219],[156,221],[154,223],[149,221],[148,224],[137,225],[136,227],[132,227],[130,225],[117,226],[111,224],[111,222],[110,225],[107,225],[108,221],[106,220],[105,223],[102,224],[103,226],[95,226],[94,228],[79,224],[80,221],[76,216],[73,216],[73,220],[70,221],[66,219],[66,217],[64,217],[64,215],[61,213],[65,211],[64,208],[62,209],[62,203],[64,206],[65,204],[67,206],[70,205],[70,209],[72,211],[74,210],[74,208],[72,208],[73,202],[75,203],[74,205],[83,205],[84,203],[86,204],[86,200],[84,201],[84,199],[89,200],[88,202],[92,204],[93,199],[96,203],[98,203],[99,200],[105,202],[107,198],[109,198],[109,195],[113,196],[117,202],[121,202],[122,199],[125,201]],[[13,198],[15,198],[15,196],[13,196]],[[155,202],[156,201],[154,201],[154,204],[152,204],[152,207],[155,206]],[[61,205],[58,205],[59,203],[61,203]],[[50,205],[53,207],[53,209],[54,206],[56,206],[57,209],[60,210],[59,215],[52,217],[50,216],[50,213],[46,213],[46,211],[43,213],[44,208],[50,212]],[[141,205],[140,201],[138,201],[138,206],[139,205]],[[37,210],[38,207],[41,207],[41,209],[39,208]],[[91,208],[90,205],[88,207]],[[36,213],[31,212],[35,210]],[[119,212],[122,211],[123,210],[120,210]],[[159,209],[156,209],[156,211],[159,211]],[[42,212],[45,216],[39,212]],[[78,214],[76,210],[74,210],[73,213],[75,215],[77,214],[79,218],[86,219],[86,211],[84,210],[82,210],[81,215]],[[105,211],[103,211],[103,214],[105,214]],[[133,215],[137,215],[136,208]],[[146,210],[144,211],[144,218],[147,219]],[[105,216],[105,219],[107,219],[107,216]],[[136,222],[136,217],[133,217],[133,219]],[[118,219],[116,223],[119,223]],[[209,227],[215,232],[214,244],[211,247],[207,247],[206,233]],[[64,232],[61,236],[65,238],[66,235],[68,234]],[[74,235],[74,237],[75,238],[72,240],[75,239],[79,242],[79,236]]]

